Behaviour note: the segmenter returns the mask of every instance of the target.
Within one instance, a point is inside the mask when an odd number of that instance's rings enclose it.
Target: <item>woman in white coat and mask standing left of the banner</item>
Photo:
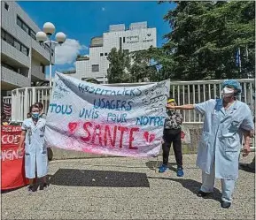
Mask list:
[[[37,105],[30,107],[31,118],[24,120],[19,140],[19,154],[25,143],[25,173],[29,179],[29,192],[35,192],[35,178],[42,178],[40,189],[47,188],[47,149],[44,145],[45,119],[39,118],[40,110]]]

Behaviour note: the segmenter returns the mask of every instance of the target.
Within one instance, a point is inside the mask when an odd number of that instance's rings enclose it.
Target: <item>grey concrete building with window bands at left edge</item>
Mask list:
[[[41,31],[19,4],[1,2],[1,96],[18,87],[31,87],[45,80],[50,47],[35,40]],[[54,51],[51,51],[54,63]]]

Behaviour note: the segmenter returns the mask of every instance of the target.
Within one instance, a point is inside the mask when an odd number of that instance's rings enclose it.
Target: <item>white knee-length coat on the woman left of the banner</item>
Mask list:
[[[48,157],[44,144],[45,123],[45,119],[39,118],[35,125],[32,118],[27,118],[21,127],[26,131],[25,172],[27,178],[35,178],[35,170],[38,178],[47,175]]]

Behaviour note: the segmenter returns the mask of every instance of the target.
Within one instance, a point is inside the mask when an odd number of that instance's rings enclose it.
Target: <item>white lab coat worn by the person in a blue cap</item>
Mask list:
[[[198,167],[210,174],[215,161],[216,178],[237,179],[243,130],[253,130],[252,112],[248,105],[236,101],[224,110],[222,99],[212,99],[195,104],[195,110],[205,115],[198,145]]]

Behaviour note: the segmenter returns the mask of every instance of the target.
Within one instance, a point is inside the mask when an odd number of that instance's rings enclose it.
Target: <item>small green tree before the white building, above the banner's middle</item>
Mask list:
[[[109,83],[124,83],[130,81],[130,57],[128,51],[113,48],[107,56],[110,62],[107,70],[107,78]]]

